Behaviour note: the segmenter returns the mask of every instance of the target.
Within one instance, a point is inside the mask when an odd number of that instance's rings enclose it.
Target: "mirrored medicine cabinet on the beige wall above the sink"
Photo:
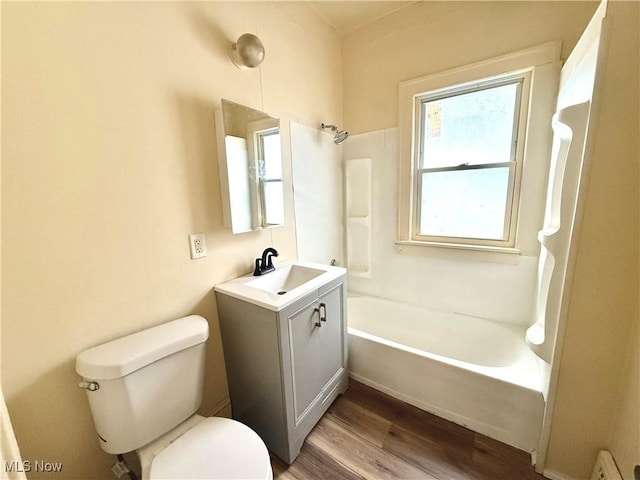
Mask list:
[[[222,99],[216,135],[225,227],[284,225],[280,119]]]

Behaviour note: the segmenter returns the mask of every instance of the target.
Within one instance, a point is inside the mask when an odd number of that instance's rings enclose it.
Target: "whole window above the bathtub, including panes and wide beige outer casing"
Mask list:
[[[546,44],[400,84],[399,244],[519,251],[521,214],[535,228],[543,211],[535,192],[532,213],[521,205],[528,130],[533,143],[548,143],[548,122],[532,132],[532,113],[543,117],[530,105],[540,110],[534,100],[552,98],[557,73],[548,71],[558,58],[557,45]],[[534,87],[534,74],[538,84],[551,81]],[[536,162],[530,183],[548,157]]]

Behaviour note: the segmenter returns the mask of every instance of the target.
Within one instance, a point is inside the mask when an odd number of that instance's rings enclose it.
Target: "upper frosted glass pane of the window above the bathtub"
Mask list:
[[[421,168],[513,160],[519,84],[423,101]]]

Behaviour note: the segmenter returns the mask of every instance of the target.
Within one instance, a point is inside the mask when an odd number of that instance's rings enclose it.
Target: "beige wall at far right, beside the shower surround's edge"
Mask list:
[[[638,335],[639,10],[610,2],[607,12],[611,39],[547,458],[550,470],[574,478],[590,475],[599,449],[622,439],[637,446],[640,435],[637,390],[624,395],[639,361],[637,339],[629,340]],[[625,367],[633,349],[636,365]],[[615,427],[623,400],[635,402],[627,432]],[[628,466],[625,474],[632,478]]]

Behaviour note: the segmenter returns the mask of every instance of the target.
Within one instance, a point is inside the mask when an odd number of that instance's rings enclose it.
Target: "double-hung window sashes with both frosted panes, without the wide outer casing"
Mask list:
[[[525,80],[528,86],[528,75],[518,75],[416,97],[416,237],[513,246]]]

